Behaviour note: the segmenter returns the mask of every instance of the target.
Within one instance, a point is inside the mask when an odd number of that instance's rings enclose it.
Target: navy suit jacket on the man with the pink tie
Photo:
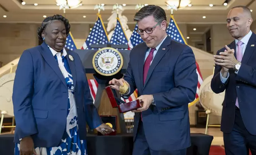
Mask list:
[[[222,103],[221,131],[230,133],[235,122],[235,103],[238,98],[240,113],[244,126],[250,134],[256,135],[256,34],[252,32],[238,74],[233,69],[229,69],[229,78],[223,84],[220,79],[221,66],[216,65],[214,76],[211,79],[211,89],[214,93],[222,93],[225,90],[225,98]],[[228,45],[230,49],[236,51],[235,41]],[[217,51],[224,52],[225,47]],[[236,53],[235,53],[236,57]]]

